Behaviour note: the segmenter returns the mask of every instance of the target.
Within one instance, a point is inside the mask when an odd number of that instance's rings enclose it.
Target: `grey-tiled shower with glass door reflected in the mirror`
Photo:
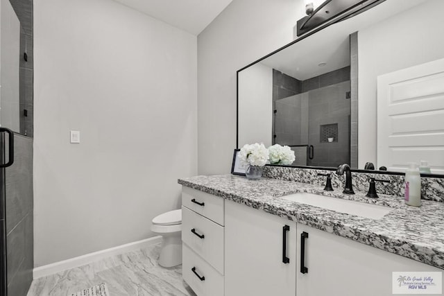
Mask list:
[[[299,94],[286,96],[291,94],[287,90],[273,97],[273,144],[287,145],[295,151],[297,160],[293,165],[336,167],[350,163],[351,105],[347,73],[350,67],[333,73],[334,78],[325,82],[325,86],[302,81]]]

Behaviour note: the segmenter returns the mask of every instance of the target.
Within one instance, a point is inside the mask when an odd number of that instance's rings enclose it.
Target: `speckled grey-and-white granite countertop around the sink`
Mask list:
[[[179,179],[178,183],[444,269],[444,202],[421,200],[420,207],[409,207],[397,196],[366,198],[366,192],[343,195],[337,189],[323,191],[317,185],[268,178],[250,181],[237,175],[196,176]],[[393,210],[373,220],[280,198],[297,192],[379,204]]]

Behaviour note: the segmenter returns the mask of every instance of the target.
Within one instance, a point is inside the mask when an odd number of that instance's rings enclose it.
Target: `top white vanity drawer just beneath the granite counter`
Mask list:
[[[223,198],[182,186],[182,205],[219,225],[224,225],[223,201]]]

